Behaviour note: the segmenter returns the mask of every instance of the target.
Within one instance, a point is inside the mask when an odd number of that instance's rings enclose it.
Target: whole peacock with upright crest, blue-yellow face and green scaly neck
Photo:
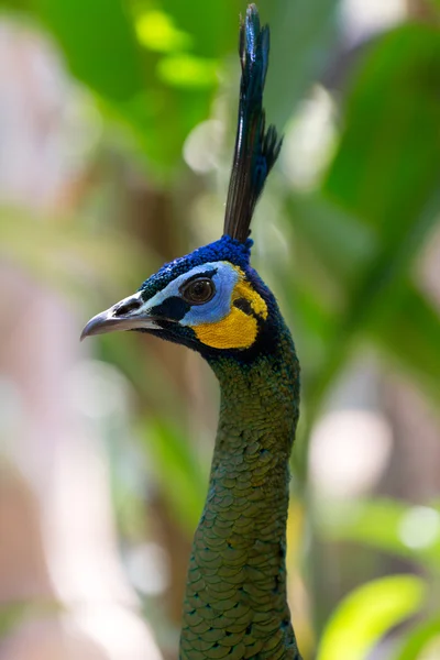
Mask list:
[[[265,128],[268,26],[240,21],[238,131],[223,235],[165,264],[81,338],[138,330],[200,353],[221,391],[209,490],[186,584],[180,660],[300,660],[286,596],[289,455],[299,364],[274,295],[250,265],[250,224],[282,139]]]

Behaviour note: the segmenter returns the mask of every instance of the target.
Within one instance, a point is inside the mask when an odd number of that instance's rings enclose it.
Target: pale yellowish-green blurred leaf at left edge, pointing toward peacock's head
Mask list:
[[[37,282],[89,302],[99,289],[117,301],[145,273],[146,255],[127,234],[94,234],[75,218],[47,220],[12,208],[0,208],[0,254]]]

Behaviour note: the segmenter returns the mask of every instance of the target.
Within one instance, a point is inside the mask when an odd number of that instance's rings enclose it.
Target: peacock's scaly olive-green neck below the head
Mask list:
[[[252,362],[210,361],[220,382],[220,420],[190,558],[182,660],[300,660],[285,565],[299,367],[279,324],[276,340]]]

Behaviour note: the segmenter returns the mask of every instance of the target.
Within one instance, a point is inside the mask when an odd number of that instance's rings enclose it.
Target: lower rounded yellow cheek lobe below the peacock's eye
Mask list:
[[[256,339],[258,326],[254,317],[232,307],[217,323],[200,323],[194,331],[201,342],[213,349],[249,349]]]

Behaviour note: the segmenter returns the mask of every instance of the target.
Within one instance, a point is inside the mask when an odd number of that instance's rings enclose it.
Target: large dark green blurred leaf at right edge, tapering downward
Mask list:
[[[356,72],[323,195],[371,230],[375,250],[344,280],[344,306],[308,393],[311,417],[353,340],[403,295],[410,264],[437,221],[439,88],[440,34],[425,24],[404,25],[377,40]],[[326,235],[323,217],[321,222]],[[332,261],[329,254],[327,263]]]

